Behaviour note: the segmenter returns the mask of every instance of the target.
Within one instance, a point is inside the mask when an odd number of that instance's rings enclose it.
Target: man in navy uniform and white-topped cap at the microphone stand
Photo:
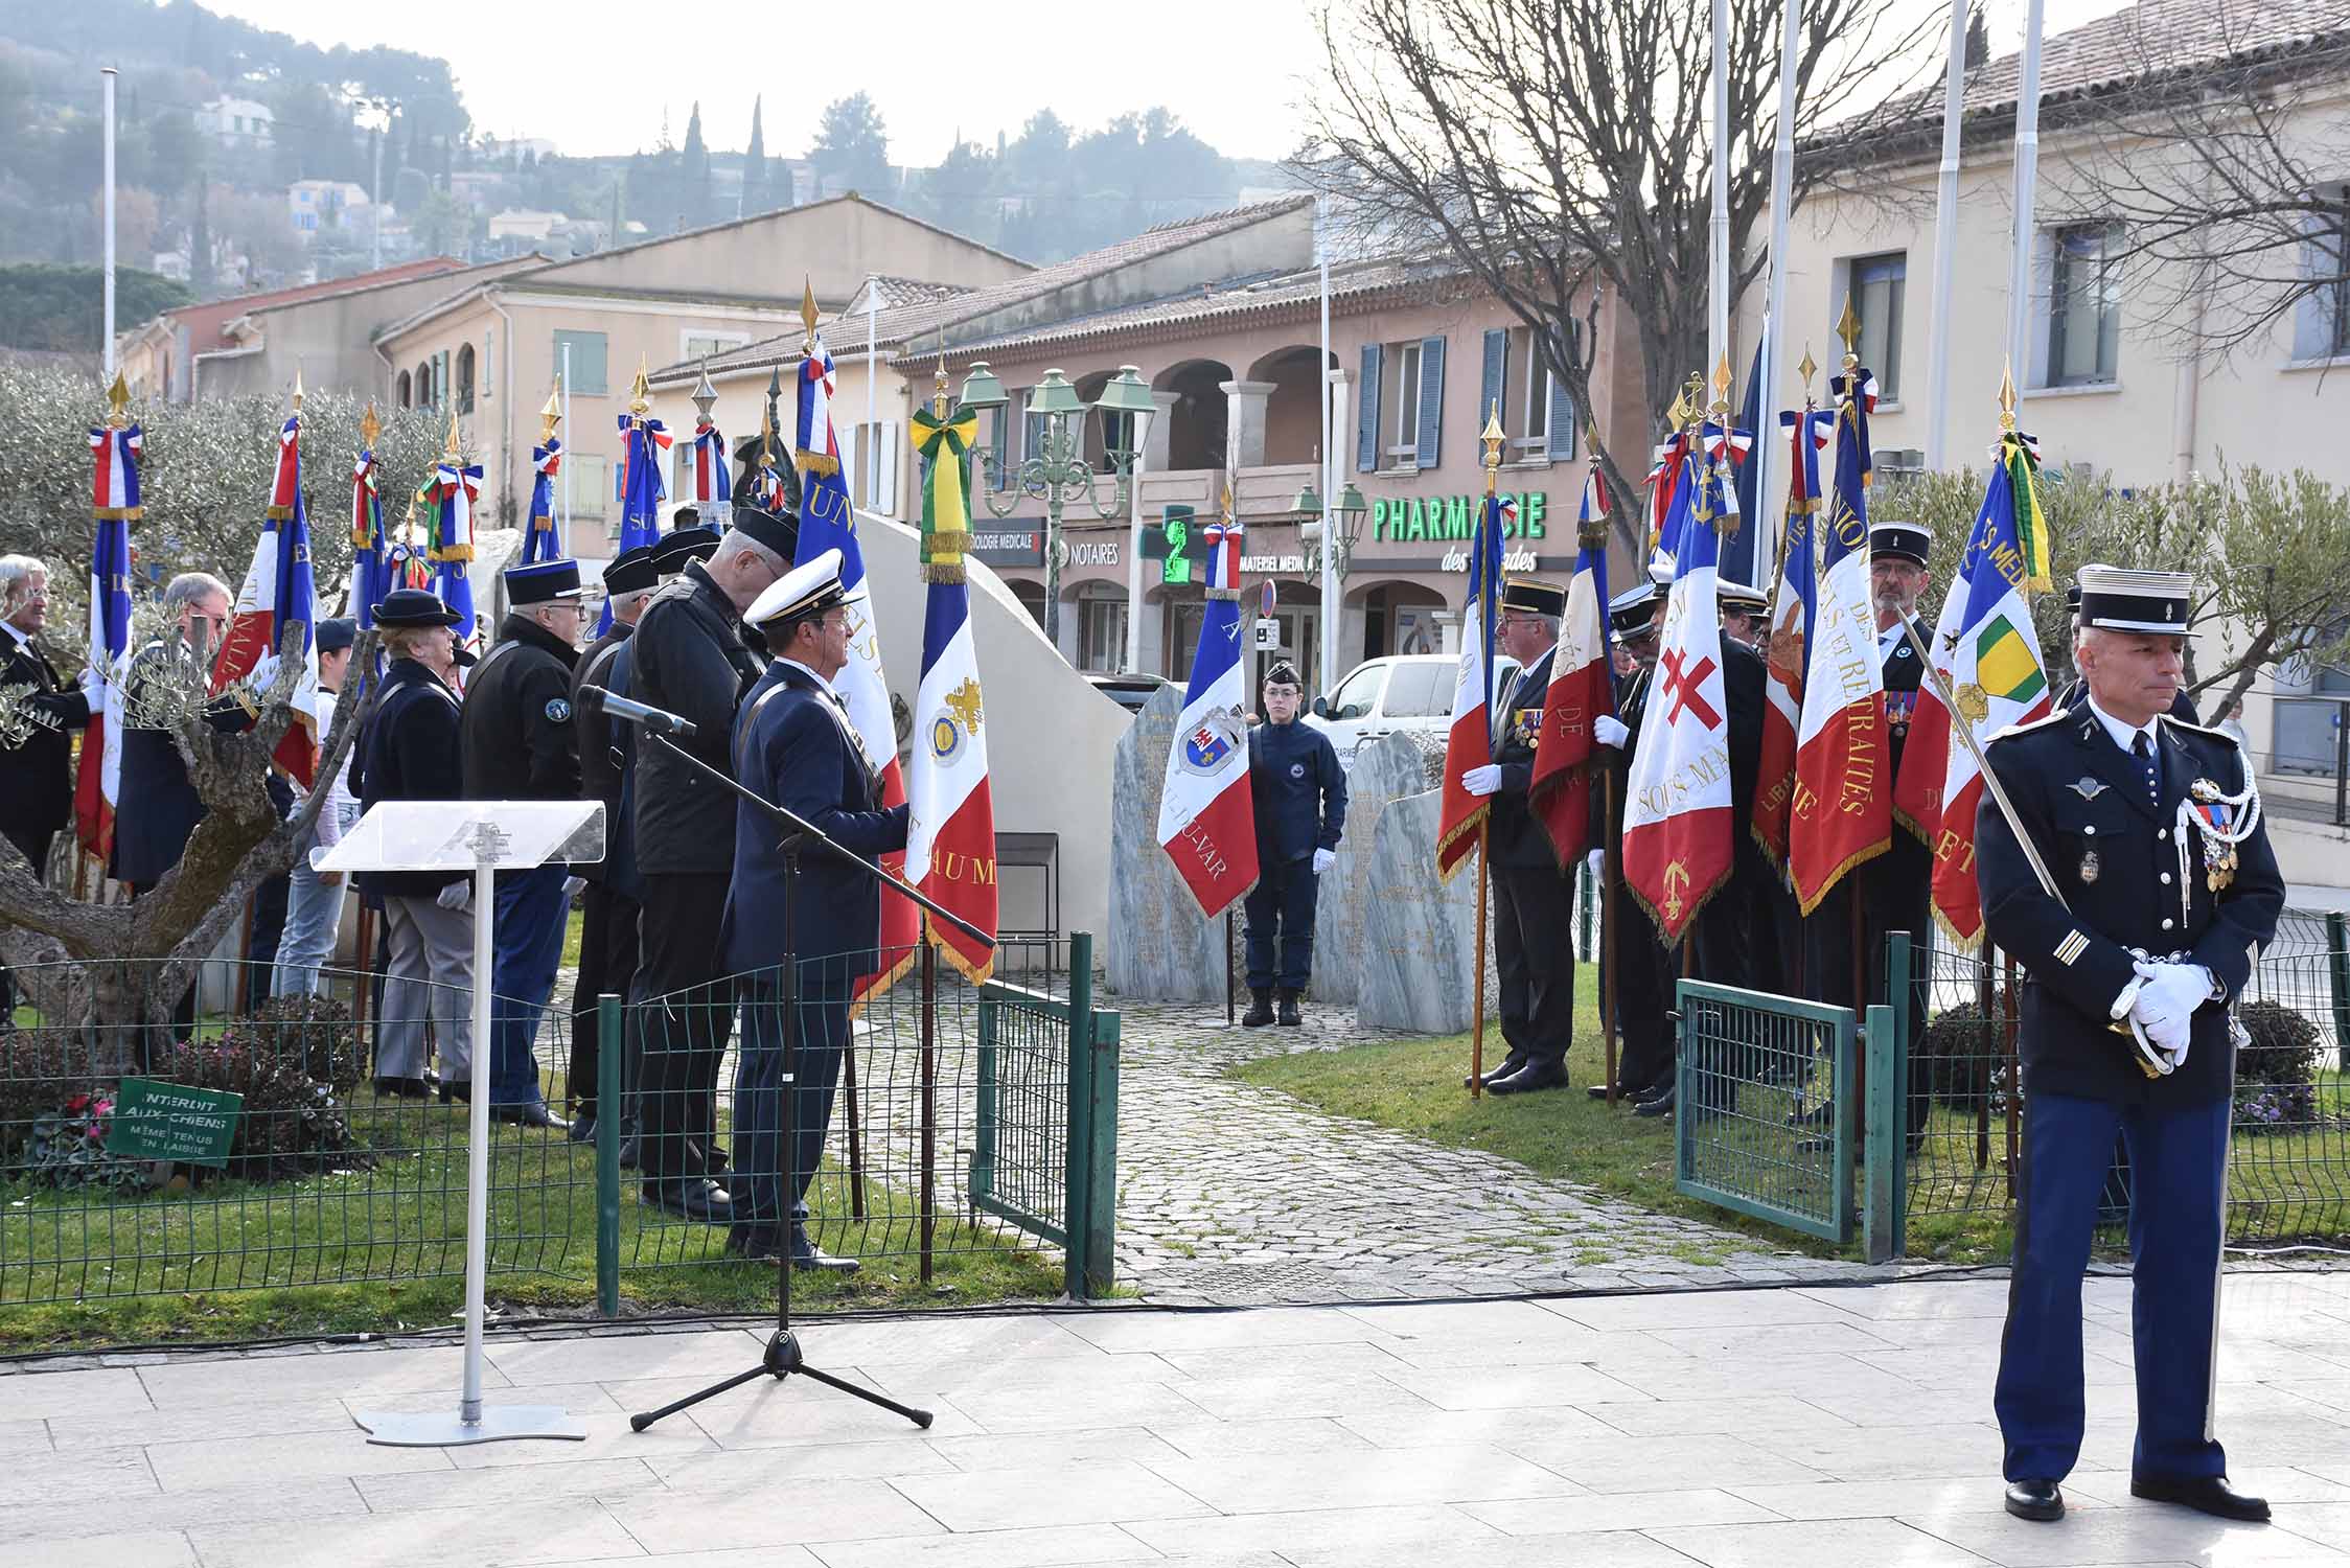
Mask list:
[[[905,849],[907,809],[881,806],[874,759],[832,679],[848,663],[851,611],[841,552],[825,550],[761,592],[743,623],[771,661],[733,724],[736,778],[785,806],[851,856],[879,860]],[[736,1065],[733,1225],[726,1251],[794,1269],[855,1269],[806,1232],[808,1182],[825,1157],[832,1088],[851,1048],[848,999],[877,966],[881,884],[855,863],[808,844],[797,886],[785,879],[783,832],[736,802],[733,889],[719,940],[728,973],[754,976],[743,994]],[[790,931],[790,950],[785,947]],[[785,1058],[783,964],[799,978],[797,1039]],[[785,1072],[792,1077],[792,1140],[783,1138]],[[790,1164],[785,1164],[790,1161]]]

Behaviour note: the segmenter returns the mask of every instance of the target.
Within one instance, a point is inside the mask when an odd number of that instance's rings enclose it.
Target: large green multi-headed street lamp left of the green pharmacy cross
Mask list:
[[[1008,404],[1010,397],[1006,397],[996,374],[985,362],[973,364],[964,378],[964,407],[980,414]],[[1043,414],[1039,451],[1006,470],[1003,421],[996,421],[996,437],[980,444],[980,473],[987,475],[985,496],[992,515],[1008,517],[1020,505],[1020,496],[1046,505],[1043,635],[1055,649],[1060,646],[1060,567],[1069,552],[1060,538],[1062,508],[1083,496],[1102,522],[1123,515],[1133,498],[1144,421],[1159,411],[1159,404],[1152,402],[1152,388],[1142,383],[1142,374],[1133,364],[1119,367],[1093,407],[1102,414],[1102,451],[1109,458],[1109,473],[1119,480],[1109,505],[1102,505],[1102,496],[1093,489],[1095,473],[1093,463],[1086,461],[1086,400],[1058,369],[1048,369],[1036,390],[1029,393],[1027,411]],[[1003,494],[1001,503],[996,501],[999,491]]]

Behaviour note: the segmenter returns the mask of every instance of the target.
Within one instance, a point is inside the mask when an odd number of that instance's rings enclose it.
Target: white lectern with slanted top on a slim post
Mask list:
[[[310,851],[322,872],[472,872],[472,1095],[465,1143],[465,1394],[456,1415],[362,1410],[369,1443],[456,1448],[517,1436],[585,1441],[559,1406],[482,1406],[482,1286],[489,1269],[489,987],[496,872],[548,860],[602,860],[604,804],[569,799],[383,802],[334,849]]]

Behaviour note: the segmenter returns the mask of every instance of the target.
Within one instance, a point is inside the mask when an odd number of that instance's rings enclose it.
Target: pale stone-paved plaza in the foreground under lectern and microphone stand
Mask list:
[[[585,1443],[374,1448],[458,1352],[89,1359],[0,1375],[9,1568],[2350,1566],[2350,1274],[2228,1281],[2221,1432],[2277,1523],[2127,1495],[2129,1286],[2089,1284],[2089,1443],[2007,1519],[2005,1288],[1906,1281],[1391,1307],[808,1326],[916,1432],[759,1382],[747,1331],[496,1340],[489,1394]]]

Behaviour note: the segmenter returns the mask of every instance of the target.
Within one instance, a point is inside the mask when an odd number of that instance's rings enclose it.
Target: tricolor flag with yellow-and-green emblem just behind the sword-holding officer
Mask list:
[[[2047,717],[2054,705],[2028,599],[2033,562],[2042,571],[2047,567],[2047,534],[2037,524],[2040,465],[2030,437],[2014,430],[2000,437],[1995,456],[1998,468],[1983,489],[1983,508],[1932,646],[1934,670],[1958,712],[1943,708],[1939,696],[1927,701],[1925,691],[1918,693],[1896,785],[1896,804],[1906,804],[1911,816],[1932,806],[1920,830],[1934,849],[1934,919],[1969,950],[1983,938],[1983,900],[1974,882],[1974,813],[1983,799],[1983,773],[1972,748],[1950,743],[1950,726],[1965,724],[1976,743],[1986,743],[2007,724]],[[2044,576],[2040,585],[2047,585]],[[1927,792],[1927,771],[1936,766],[1939,778]]]

